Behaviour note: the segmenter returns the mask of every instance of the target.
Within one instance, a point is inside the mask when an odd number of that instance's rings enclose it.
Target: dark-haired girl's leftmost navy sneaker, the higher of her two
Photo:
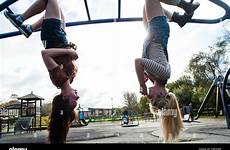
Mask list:
[[[24,21],[21,15],[9,11],[4,11],[4,15],[16,28],[20,27]]]

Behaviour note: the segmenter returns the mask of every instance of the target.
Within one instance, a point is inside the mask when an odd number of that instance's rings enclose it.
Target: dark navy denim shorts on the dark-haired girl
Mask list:
[[[68,45],[65,31],[61,28],[61,20],[44,19],[41,29],[41,40],[45,48],[65,48]]]

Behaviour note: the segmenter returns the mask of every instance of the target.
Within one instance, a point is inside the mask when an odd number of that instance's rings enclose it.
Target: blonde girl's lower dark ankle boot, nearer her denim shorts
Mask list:
[[[171,22],[176,22],[181,28],[192,19],[193,13],[188,15],[184,13],[184,15],[179,15],[179,13],[174,12],[171,18]]]

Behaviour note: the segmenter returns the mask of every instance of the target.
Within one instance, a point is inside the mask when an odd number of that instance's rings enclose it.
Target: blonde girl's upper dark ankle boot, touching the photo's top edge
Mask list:
[[[191,15],[194,13],[194,11],[200,6],[200,3],[191,3],[191,2],[186,2],[184,0],[181,0],[181,2],[178,4],[178,6],[188,14]]]

